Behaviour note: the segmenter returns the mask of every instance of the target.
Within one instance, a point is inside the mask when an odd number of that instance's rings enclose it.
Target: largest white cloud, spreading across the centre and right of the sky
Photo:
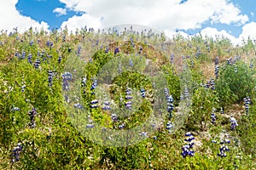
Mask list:
[[[201,28],[207,20],[212,23],[243,25],[246,14],[227,0],[60,0],[67,8],[88,13],[96,20],[104,17],[102,26],[142,24],[157,29]]]

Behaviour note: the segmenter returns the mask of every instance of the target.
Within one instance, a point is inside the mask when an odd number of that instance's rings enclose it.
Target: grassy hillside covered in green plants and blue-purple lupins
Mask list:
[[[255,48],[153,31],[2,32],[0,168],[256,169]]]

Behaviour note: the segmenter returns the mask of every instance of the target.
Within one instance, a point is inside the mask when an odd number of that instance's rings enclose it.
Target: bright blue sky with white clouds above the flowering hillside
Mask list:
[[[137,24],[168,37],[224,36],[236,45],[256,39],[255,7],[255,0],[0,0],[0,30]]]

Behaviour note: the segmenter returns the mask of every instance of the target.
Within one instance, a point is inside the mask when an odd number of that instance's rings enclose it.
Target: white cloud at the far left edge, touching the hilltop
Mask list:
[[[0,29],[11,31],[13,28],[18,27],[20,31],[26,31],[31,26],[33,28],[37,27],[48,29],[49,26],[44,21],[38,23],[36,20],[32,20],[30,17],[21,15],[15,8],[15,4],[18,0],[4,1],[0,0]]]

